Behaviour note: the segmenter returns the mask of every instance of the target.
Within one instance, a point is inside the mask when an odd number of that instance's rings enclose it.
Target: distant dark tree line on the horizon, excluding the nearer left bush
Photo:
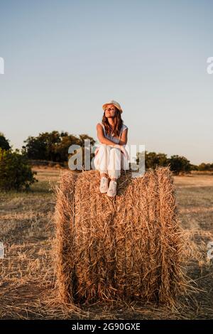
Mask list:
[[[53,162],[67,162],[69,158],[68,149],[71,145],[79,145],[84,148],[84,140],[89,139],[93,146],[95,140],[87,134],[80,134],[74,136],[68,132],[43,132],[38,136],[28,136],[23,141],[25,145],[22,146],[21,153],[31,160],[45,160]],[[11,149],[9,139],[6,139],[4,134],[0,133],[0,148],[4,150]],[[140,152],[136,155],[136,163],[139,161]],[[200,163],[200,165],[193,165],[184,156],[173,155],[170,158],[165,153],[155,153],[145,151],[146,168],[155,168],[156,166],[168,166],[175,171],[189,172],[189,171],[213,171],[213,163]]]

